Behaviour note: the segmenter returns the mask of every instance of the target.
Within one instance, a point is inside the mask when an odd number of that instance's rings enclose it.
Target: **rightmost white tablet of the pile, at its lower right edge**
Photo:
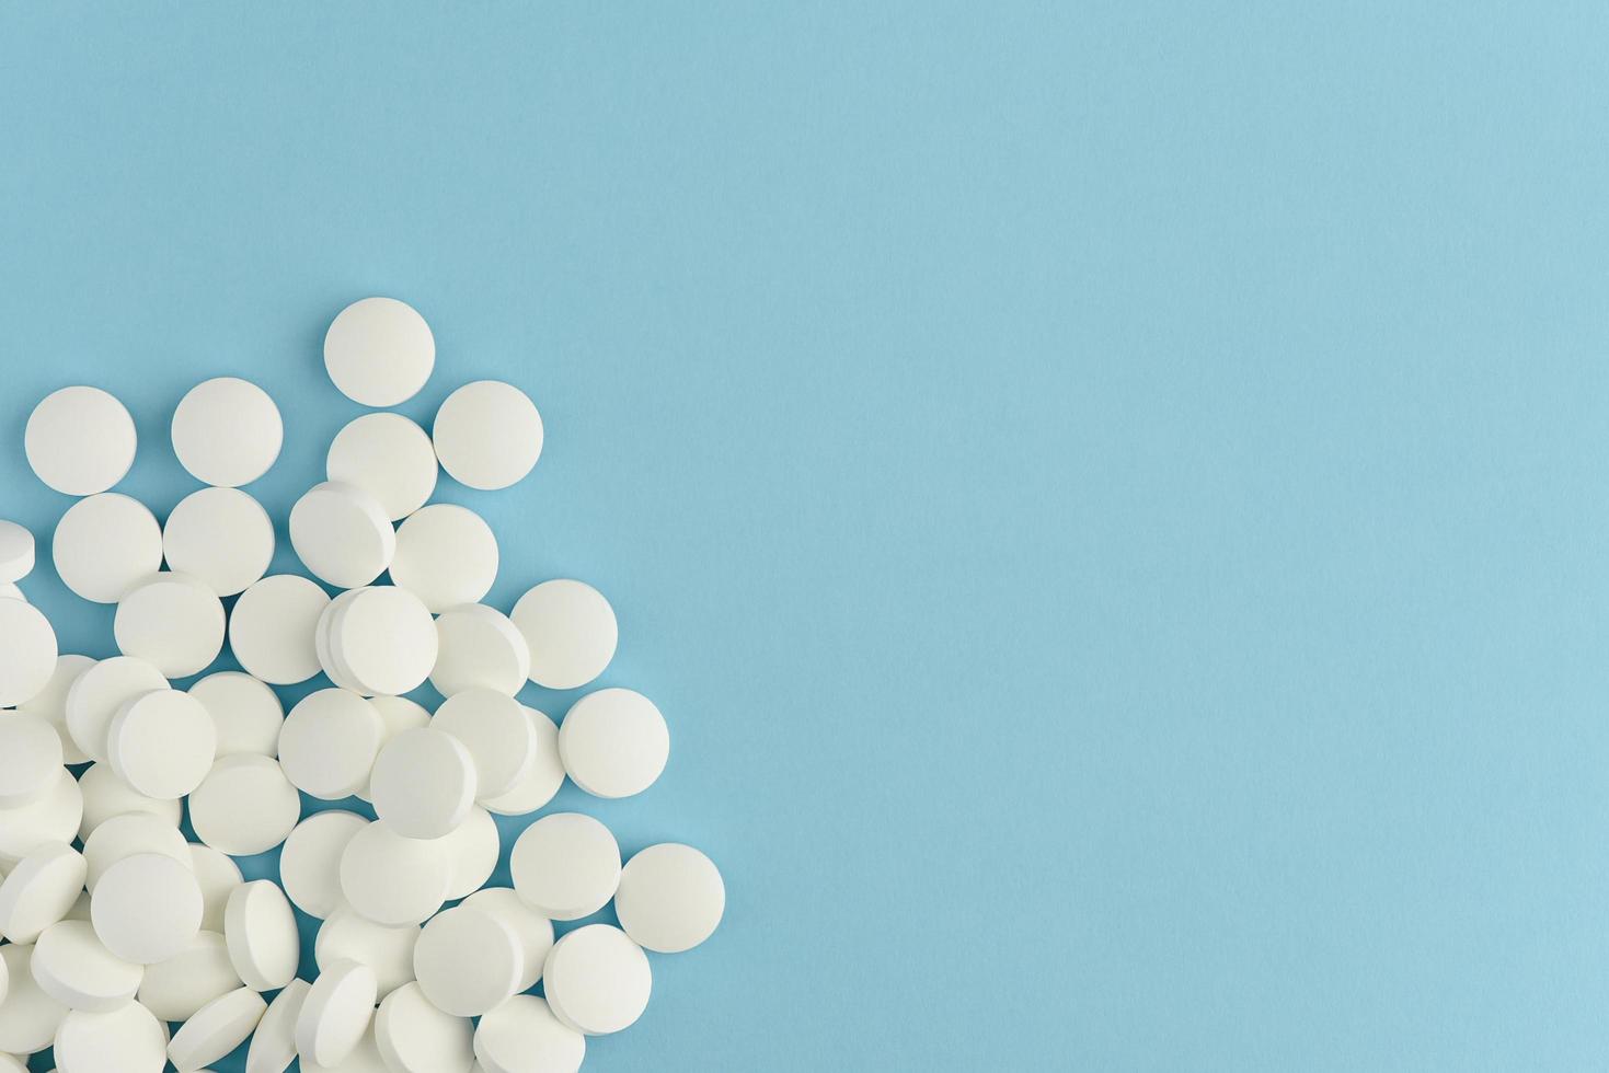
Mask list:
[[[644,949],[690,951],[714,933],[724,911],[721,872],[692,846],[648,846],[621,869],[615,912],[619,927]]]

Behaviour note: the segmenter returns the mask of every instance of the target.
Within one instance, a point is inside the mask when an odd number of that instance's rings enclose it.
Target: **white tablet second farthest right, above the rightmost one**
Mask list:
[[[653,785],[671,754],[665,716],[642,693],[587,693],[558,727],[558,756],[570,779],[595,798],[629,798]]]

